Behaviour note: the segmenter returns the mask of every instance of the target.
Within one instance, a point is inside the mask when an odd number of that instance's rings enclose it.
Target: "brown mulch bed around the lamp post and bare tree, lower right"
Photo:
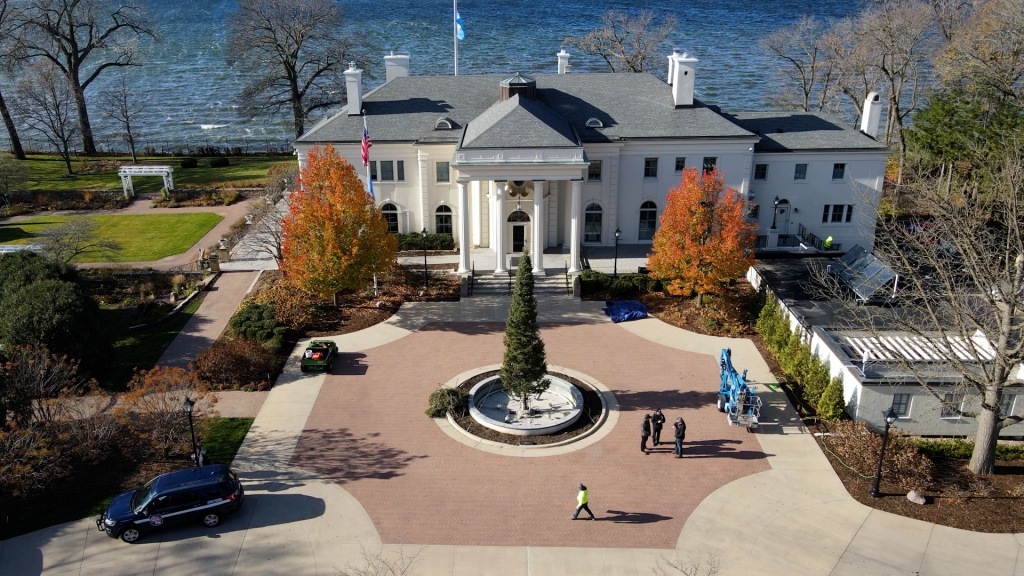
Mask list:
[[[818,445],[821,438],[816,439]],[[822,450],[847,491],[865,506],[899,516],[975,532],[1024,532],[1024,462],[998,461],[992,476],[975,476],[968,460],[935,460],[932,485],[920,492],[925,505],[906,499],[906,491],[882,477],[882,498],[871,498],[871,479],[861,478]],[[873,470],[871,470],[873,474]]]

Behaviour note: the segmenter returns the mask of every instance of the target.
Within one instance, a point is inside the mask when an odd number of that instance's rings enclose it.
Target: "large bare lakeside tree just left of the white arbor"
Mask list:
[[[25,55],[53,63],[68,79],[82,149],[95,154],[85,90],[104,70],[141,64],[140,40],[157,37],[142,8],[133,0],[31,0],[17,28]]]

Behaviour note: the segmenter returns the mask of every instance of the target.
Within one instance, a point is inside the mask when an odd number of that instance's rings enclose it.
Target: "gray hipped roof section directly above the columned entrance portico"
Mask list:
[[[561,116],[543,102],[515,94],[474,118],[466,127],[464,149],[577,148],[580,139]]]

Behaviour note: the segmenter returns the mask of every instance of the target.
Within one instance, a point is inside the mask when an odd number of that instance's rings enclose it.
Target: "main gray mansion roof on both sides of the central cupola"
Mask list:
[[[407,76],[368,92],[370,135],[376,142],[458,142],[462,129],[499,101],[501,76]],[[628,138],[754,137],[712,108],[694,100],[676,109],[672,90],[650,74],[541,74],[537,98],[575,128],[584,142]],[[441,116],[452,130],[435,130]],[[596,118],[603,128],[587,128]],[[556,131],[559,128],[552,127]],[[345,110],[329,118],[298,142],[355,142],[362,117]]]

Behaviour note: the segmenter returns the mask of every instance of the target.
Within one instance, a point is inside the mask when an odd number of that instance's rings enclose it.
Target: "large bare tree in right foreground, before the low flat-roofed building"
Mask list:
[[[936,383],[932,366],[894,361],[947,410],[977,421],[970,468],[980,475],[993,471],[999,430],[1024,420],[1024,408],[1000,407],[1007,387],[1024,383],[1024,146],[1004,148],[1002,158],[989,159],[989,177],[914,184],[915,211],[929,217],[909,227],[879,220],[876,253],[899,275],[898,306],[844,306],[851,328],[931,342],[962,378],[950,388]],[[842,293],[834,277],[817,276]]]

